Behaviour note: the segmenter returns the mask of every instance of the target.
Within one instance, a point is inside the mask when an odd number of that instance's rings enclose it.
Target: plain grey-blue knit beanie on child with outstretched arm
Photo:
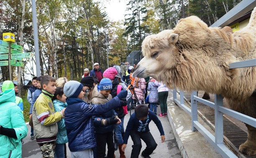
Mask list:
[[[77,81],[69,81],[64,84],[64,94],[68,98],[77,98],[83,89],[83,85]]]

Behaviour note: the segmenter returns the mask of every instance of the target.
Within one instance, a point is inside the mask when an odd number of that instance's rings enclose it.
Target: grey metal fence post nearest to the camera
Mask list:
[[[220,94],[214,94],[215,104],[215,144],[223,144],[223,113],[219,107],[223,106],[223,98]]]

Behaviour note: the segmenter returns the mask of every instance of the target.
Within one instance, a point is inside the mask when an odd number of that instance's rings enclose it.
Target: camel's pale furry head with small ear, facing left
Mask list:
[[[175,65],[175,43],[179,35],[172,30],[164,30],[158,34],[147,36],[142,42],[144,58],[138,63],[133,77],[152,76],[159,79],[161,73]],[[177,51],[177,50],[176,50]],[[160,80],[160,79],[159,79]]]

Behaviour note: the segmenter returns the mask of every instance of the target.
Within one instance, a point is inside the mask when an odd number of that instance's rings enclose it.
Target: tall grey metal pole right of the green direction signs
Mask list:
[[[31,2],[32,2],[33,34],[34,34],[34,46],[35,46],[35,57],[36,57],[36,76],[41,76],[39,48],[38,48],[37,18],[36,18],[36,0],[31,0]]]

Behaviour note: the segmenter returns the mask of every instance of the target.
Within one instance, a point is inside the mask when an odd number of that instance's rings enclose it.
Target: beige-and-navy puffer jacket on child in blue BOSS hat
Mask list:
[[[92,104],[104,104],[110,101],[111,99],[111,94],[109,94],[107,98],[98,91],[98,84],[95,86],[95,88],[92,91]],[[115,112],[115,110],[112,109],[108,112],[105,112],[104,114],[92,116],[94,120],[95,133],[102,134],[112,132],[114,130],[115,125],[102,125],[101,120],[108,119],[110,117],[113,117],[114,115],[117,115],[117,113]]]

